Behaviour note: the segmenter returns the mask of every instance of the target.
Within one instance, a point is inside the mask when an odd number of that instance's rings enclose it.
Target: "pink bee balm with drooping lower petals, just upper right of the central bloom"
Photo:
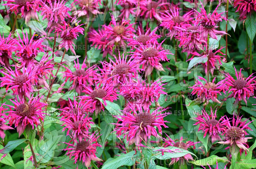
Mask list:
[[[157,71],[164,71],[160,61],[169,60],[167,58],[170,53],[168,50],[162,49],[162,41],[159,45],[154,42],[153,45],[149,46],[140,46],[140,48],[135,47],[135,52],[132,53],[132,59],[140,60],[142,64],[142,69],[145,70],[145,76],[148,76],[152,73],[153,68],[156,68]]]

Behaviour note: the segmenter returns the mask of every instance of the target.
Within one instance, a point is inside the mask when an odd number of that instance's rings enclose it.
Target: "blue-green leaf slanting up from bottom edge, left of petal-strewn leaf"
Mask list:
[[[138,151],[137,151],[137,155],[138,155]],[[109,168],[116,169],[122,165],[131,166],[135,163],[136,158],[140,158],[137,155],[135,154],[135,151],[131,151],[126,154],[121,154],[120,156],[113,158],[109,162],[106,161],[102,165],[101,169],[109,169]]]

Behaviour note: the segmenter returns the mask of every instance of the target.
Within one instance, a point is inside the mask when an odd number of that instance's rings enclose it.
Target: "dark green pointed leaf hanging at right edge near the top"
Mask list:
[[[251,39],[251,41],[253,41],[256,33],[255,23],[256,23],[256,15],[253,13],[251,15],[247,15],[247,18],[245,20],[245,27],[246,27],[246,32],[249,38]]]

